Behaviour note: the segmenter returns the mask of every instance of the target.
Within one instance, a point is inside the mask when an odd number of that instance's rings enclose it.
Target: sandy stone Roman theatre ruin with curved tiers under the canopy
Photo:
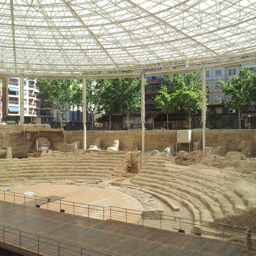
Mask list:
[[[202,232],[198,222],[250,227],[255,232],[256,161],[245,156],[255,153],[254,130],[207,131],[205,151],[200,132],[192,132],[194,150],[177,154],[176,131],[145,134],[144,153],[138,131],[88,132],[91,145],[83,150],[82,132],[65,133],[49,125],[1,126],[1,200],[11,188],[16,202],[19,197],[26,200],[24,191],[36,192],[37,198],[58,195],[54,200],[61,199],[64,205],[119,207],[146,214],[144,220],[134,214],[134,223],[173,218],[167,229],[197,235]],[[47,139],[49,149],[37,148],[38,138]]]

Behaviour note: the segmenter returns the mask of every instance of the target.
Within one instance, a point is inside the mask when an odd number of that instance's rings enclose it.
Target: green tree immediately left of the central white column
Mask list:
[[[137,78],[118,79],[121,83],[121,108],[126,113],[127,129],[129,130],[129,116],[132,112],[138,112],[141,106],[140,82]]]

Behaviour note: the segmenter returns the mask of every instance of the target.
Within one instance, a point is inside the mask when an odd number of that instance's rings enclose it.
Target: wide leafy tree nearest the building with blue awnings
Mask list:
[[[55,109],[60,114],[60,127],[62,128],[63,114],[70,110],[70,106],[79,104],[74,97],[74,91],[79,87],[79,80],[38,79],[38,98],[42,105],[48,109]]]

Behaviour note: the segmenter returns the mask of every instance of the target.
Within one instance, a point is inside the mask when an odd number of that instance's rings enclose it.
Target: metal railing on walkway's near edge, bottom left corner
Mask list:
[[[104,252],[87,249],[85,247],[46,238],[44,236],[35,235],[2,225],[0,225],[0,241],[4,245],[11,245],[19,248],[20,250],[33,252],[37,255],[113,256]]]

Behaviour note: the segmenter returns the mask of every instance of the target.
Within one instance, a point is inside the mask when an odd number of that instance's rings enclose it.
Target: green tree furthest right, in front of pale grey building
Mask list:
[[[229,81],[225,83],[220,80],[220,87],[229,100],[222,100],[220,104],[225,107],[238,109],[239,129],[241,129],[241,112],[242,108],[250,105],[255,97],[255,74],[252,75],[249,66],[239,70],[239,77],[237,75],[231,76]],[[255,82],[254,82],[255,81]]]

